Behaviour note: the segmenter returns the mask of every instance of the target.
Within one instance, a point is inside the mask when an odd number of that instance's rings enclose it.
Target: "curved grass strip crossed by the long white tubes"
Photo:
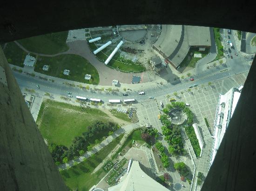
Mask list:
[[[89,43],[89,47],[91,51],[95,51],[97,49],[97,46],[94,43]],[[96,56],[101,62],[105,62],[113,50],[106,49],[104,51],[100,51]],[[146,70],[142,64],[138,62],[134,63],[129,59],[121,57],[120,52],[115,54],[115,56],[109,61],[108,66],[123,72],[142,72]]]

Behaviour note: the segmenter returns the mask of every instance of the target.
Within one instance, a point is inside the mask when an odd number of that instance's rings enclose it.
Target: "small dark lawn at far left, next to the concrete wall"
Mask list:
[[[24,67],[23,63],[27,52],[20,49],[14,42],[7,43],[4,53],[9,64]]]

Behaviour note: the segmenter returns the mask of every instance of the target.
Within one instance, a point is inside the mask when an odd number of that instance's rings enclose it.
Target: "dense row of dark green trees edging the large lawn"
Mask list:
[[[48,145],[49,150],[53,156],[53,159],[57,165],[61,163],[66,163],[68,160],[77,159],[84,152],[91,148],[90,143],[99,142],[95,139],[98,134],[104,132],[106,135],[110,131],[115,131],[119,126],[113,122],[103,122],[94,121],[90,126],[88,126],[88,131],[83,133],[83,136],[74,137],[72,145],[67,148],[67,146],[56,145],[51,143]]]

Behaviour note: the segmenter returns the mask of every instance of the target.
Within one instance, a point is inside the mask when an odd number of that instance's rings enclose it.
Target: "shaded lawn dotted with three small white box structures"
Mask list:
[[[48,71],[44,71],[43,65],[50,65]],[[70,75],[65,76],[64,70],[70,70]],[[99,84],[99,73],[85,58],[74,54],[63,54],[55,57],[38,57],[34,71],[48,76],[60,77],[81,83]],[[86,74],[92,75],[91,80],[84,79]]]

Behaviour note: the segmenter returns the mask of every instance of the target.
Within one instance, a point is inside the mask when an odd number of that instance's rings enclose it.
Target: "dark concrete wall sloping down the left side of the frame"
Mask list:
[[[67,191],[0,47],[0,191]]]

